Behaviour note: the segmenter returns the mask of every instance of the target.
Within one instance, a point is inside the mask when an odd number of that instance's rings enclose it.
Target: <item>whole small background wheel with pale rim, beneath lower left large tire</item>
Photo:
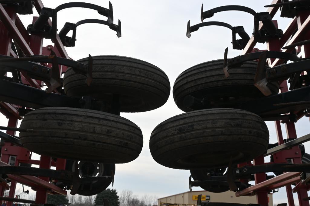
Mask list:
[[[67,160],[66,161],[66,170],[74,172],[75,171],[75,164],[78,161],[72,161]],[[92,163],[92,162],[84,162],[84,163]],[[78,163],[80,165],[80,162]],[[98,163],[94,163],[98,164]],[[79,168],[79,175],[81,177],[94,177],[94,176],[113,176],[115,174],[115,164],[105,164],[105,163],[99,163],[98,164],[98,174],[97,171],[95,171],[96,174],[83,174],[81,170],[82,168]],[[82,183],[81,186],[78,188],[77,194],[78,195],[84,195],[84,196],[92,196],[97,195],[98,193],[104,191],[109,185],[111,184],[112,180],[109,181],[91,181],[89,183]]]

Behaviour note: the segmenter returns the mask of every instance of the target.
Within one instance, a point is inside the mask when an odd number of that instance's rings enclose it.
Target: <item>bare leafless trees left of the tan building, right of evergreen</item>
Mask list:
[[[153,206],[157,205],[157,197],[151,195],[139,197],[131,190],[123,190],[119,194],[119,202],[122,206]]]

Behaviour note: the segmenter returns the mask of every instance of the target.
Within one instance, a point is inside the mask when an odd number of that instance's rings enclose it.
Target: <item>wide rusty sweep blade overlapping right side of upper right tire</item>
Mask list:
[[[258,64],[256,68],[256,73],[254,77],[254,86],[259,89],[265,96],[272,94],[267,84],[266,79],[266,61],[267,61],[267,52],[263,52],[258,59]]]

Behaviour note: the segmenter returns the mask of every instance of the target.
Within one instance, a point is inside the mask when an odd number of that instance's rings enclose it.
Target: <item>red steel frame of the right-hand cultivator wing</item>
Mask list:
[[[280,3],[281,0],[273,0],[271,4]],[[268,12],[273,18],[276,12],[278,11],[279,6],[269,7]],[[274,21],[275,25],[277,25],[277,21]],[[263,24],[259,25],[259,29],[263,27]],[[310,11],[302,11],[292,19],[287,28],[284,31],[283,36],[278,38],[269,38],[267,42],[267,50],[269,51],[283,51],[283,52],[292,52],[295,48],[284,49],[281,48],[288,42],[286,45],[291,45],[293,43],[308,40],[310,37]],[[296,30],[297,32],[290,39],[293,32]],[[246,45],[245,49],[242,51],[242,54],[247,54],[253,52],[254,46],[257,42],[254,41],[253,36],[250,38],[250,41]],[[303,45],[299,47],[301,58],[309,58],[310,57],[310,45]],[[277,66],[281,64],[284,60],[282,59],[269,59],[268,64],[271,67]],[[288,87],[286,81],[283,81],[280,85],[281,92],[287,92]],[[298,115],[297,119],[303,117],[303,111],[295,112]],[[296,129],[294,122],[285,122],[286,133],[288,139],[297,138]],[[283,135],[281,131],[281,123],[280,121],[275,121],[275,127],[277,132],[278,143],[283,144]],[[282,150],[273,154],[275,163],[286,163],[286,159],[292,159],[293,163],[301,164],[301,152],[298,146],[294,146],[289,150]],[[263,156],[258,157],[254,160],[254,165],[261,165],[264,163]],[[268,164],[268,163],[266,163]],[[297,192],[298,200],[300,206],[309,206],[308,200],[303,200],[303,198],[308,197],[307,191],[309,188],[304,184],[304,182],[300,182],[300,173],[296,172],[287,172],[282,175],[279,175],[275,178],[266,180],[266,174],[255,174],[255,185],[251,186],[245,190],[239,191],[236,193],[236,196],[250,195],[256,194],[257,203],[261,205],[268,205],[268,197],[267,194],[269,191],[273,189],[277,189],[280,187],[286,187],[286,193],[288,198],[289,206],[294,206],[294,198],[293,192]],[[299,184],[292,190],[291,184],[298,183]]]

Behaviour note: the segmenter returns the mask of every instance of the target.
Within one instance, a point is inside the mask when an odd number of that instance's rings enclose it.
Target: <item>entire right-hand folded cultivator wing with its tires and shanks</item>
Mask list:
[[[267,12],[260,13],[236,5],[203,11],[202,5],[202,23],[190,26],[188,21],[188,38],[203,26],[223,26],[232,30],[232,49],[243,49],[240,56],[228,58],[226,48],[224,59],[182,72],[175,80],[173,97],[185,113],[152,132],[153,159],[166,167],[190,170],[190,191],[192,187],[217,193],[231,190],[236,196],[256,195],[257,205],[268,205],[267,195],[286,187],[289,205],[294,205],[293,192],[299,205],[309,205],[310,156],[302,143],[309,141],[310,134],[297,138],[294,125],[309,117],[309,2],[274,0],[265,6]],[[281,17],[293,18],[284,31],[272,20],[279,8]],[[224,11],[252,14],[253,35],[249,37],[242,26],[203,22]],[[241,39],[236,40],[236,34]],[[265,42],[267,50],[254,48]],[[276,144],[268,144],[264,121],[275,121]],[[286,125],[287,139],[280,122]],[[264,162],[266,156],[270,162]],[[210,203],[200,196],[197,205],[242,204]]]

